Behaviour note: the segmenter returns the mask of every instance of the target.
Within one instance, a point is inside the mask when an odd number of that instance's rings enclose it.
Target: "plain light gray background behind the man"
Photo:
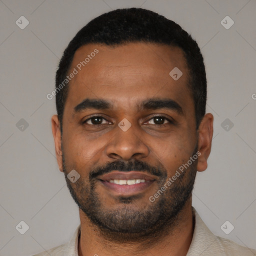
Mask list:
[[[255,0],[0,0],[0,255],[59,245],[79,224],[56,163],[54,98],[46,94],[75,33],[103,12],[132,6],[173,19],[202,49],[214,134],[193,206],[212,232],[256,248]],[[29,21],[24,29],[15,24],[21,15]],[[220,23],[226,15],[234,21],[229,29]],[[28,127],[16,125],[21,118]],[[226,118],[231,129],[221,126]],[[29,226],[23,235],[15,229],[21,220]],[[228,235],[220,229],[226,220],[234,225]]]

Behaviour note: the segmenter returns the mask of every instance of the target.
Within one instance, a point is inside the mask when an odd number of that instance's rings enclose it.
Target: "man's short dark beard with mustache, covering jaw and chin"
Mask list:
[[[191,156],[195,155],[196,151],[197,145]],[[156,190],[158,191],[169,178],[167,170],[161,163],[154,167],[136,159],[129,162],[118,160],[91,169],[88,178],[80,176],[72,183],[67,178],[68,171],[65,166],[64,153],[62,154],[63,172],[72,198],[101,236],[116,242],[148,241],[150,237],[156,241],[156,236],[161,237],[161,235],[171,233],[181,221],[179,213],[191,198],[196,175],[196,164],[197,159],[185,171],[180,173],[176,180],[162,194],[159,194],[159,197],[154,202],[147,199],[148,204],[146,207],[142,208],[137,205],[137,200],[143,196],[142,194],[137,194],[115,197],[116,204],[113,205],[113,208],[109,208],[104,207],[102,199],[96,191],[97,176],[112,170],[146,171],[159,177]],[[77,171],[82,173],[81,170],[77,169]],[[174,175],[174,172],[172,173]]]

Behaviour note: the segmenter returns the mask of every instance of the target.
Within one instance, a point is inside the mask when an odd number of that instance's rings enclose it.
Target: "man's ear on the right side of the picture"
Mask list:
[[[207,168],[207,158],[210,154],[211,140],[213,134],[213,115],[207,113],[203,116],[198,128],[198,155],[197,171]]]

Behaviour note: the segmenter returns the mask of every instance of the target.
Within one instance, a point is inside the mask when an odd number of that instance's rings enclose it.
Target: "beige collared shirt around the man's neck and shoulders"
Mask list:
[[[214,235],[204,224],[194,208],[195,225],[191,244],[186,256],[256,256],[256,250],[238,245]],[[78,236],[80,225],[69,242],[33,256],[78,256]],[[100,256],[100,252],[97,252]],[[95,253],[95,255],[97,255]]]

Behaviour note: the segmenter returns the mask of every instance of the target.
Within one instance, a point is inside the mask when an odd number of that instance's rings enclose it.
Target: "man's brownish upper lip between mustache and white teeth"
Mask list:
[[[127,172],[113,170],[107,174],[99,175],[97,178],[103,181],[109,181],[111,179],[145,179],[150,181],[155,180],[155,177],[153,175],[150,175],[146,172],[133,170]]]

